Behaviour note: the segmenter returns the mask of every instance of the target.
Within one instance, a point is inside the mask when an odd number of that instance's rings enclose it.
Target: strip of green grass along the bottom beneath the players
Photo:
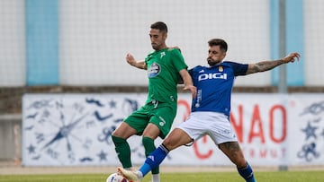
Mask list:
[[[259,182],[324,182],[324,171],[256,172]],[[71,175],[0,175],[0,182],[105,182],[106,174]],[[237,172],[162,173],[163,182],[238,182],[244,180]],[[150,182],[150,175],[143,182]]]

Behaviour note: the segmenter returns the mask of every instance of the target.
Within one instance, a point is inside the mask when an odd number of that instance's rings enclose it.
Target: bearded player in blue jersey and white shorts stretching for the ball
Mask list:
[[[166,158],[168,152],[181,145],[193,143],[205,134],[237,166],[242,178],[247,182],[257,181],[229,122],[230,95],[235,77],[265,72],[278,65],[294,62],[300,58],[300,54],[291,53],[278,60],[256,64],[239,64],[223,61],[228,49],[223,39],[211,39],[208,44],[207,62],[210,66],[198,65],[189,70],[193,85],[197,87],[197,97],[193,98],[190,117],[175,127],[163,143],[148,155],[138,171],[118,168],[121,175],[130,181],[140,181],[150,169],[155,169]]]

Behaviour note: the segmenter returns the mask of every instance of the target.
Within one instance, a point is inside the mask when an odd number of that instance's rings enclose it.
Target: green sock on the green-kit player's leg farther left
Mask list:
[[[114,135],[112,135],[112,142],[115,145],[115,151],[118,159],[121,161],[122,168],[131,168],[130,144],[125,139]]]

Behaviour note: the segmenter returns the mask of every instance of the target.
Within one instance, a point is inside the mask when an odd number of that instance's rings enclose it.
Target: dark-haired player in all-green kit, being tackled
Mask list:
[[[131,169],[130,145],[127,139],[134,134],[142,135],[145,155],[156,149],[157,136],[164,139],[169,133],[177,108],[178,82],[184,82],[184,90],[196,95],[196,88],[187,72],[184,57],[177,48],[167,48],[167,27],[164,22],[151,24],[149,38],[154,51],[145,60],[136,61],[127,54],[130,65],[148,72],[148,99],[145,105],[124,119],[112,133],[115,151],[124,169]],[[159,182],[159,169],[152,169],[152,182]]]

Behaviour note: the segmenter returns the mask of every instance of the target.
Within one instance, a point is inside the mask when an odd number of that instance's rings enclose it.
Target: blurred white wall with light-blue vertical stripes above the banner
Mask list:
[[[157,21],[189,67],[206,65],[213,38],[225,39],[225,59],[239,63],[302,55],[239,77],[234,92],[324,92],[321,0],[0,0],[0,160],[19,158],[26,93],[146,92],[146,73],[125,56],[145,58]]]

